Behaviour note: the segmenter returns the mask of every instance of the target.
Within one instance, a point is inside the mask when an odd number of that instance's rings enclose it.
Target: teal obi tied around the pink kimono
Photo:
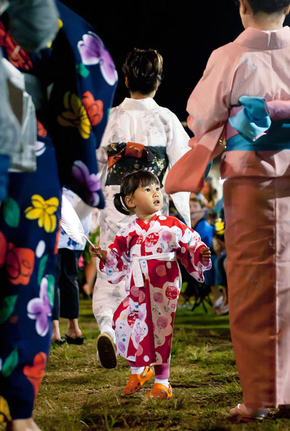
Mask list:
[[[261,97],[242,96],[239,101],[243,105],[242,110],[229,118],[229,123],[239,134],[227,141],[226,151],[290,149],[290,119],[272,121]]]

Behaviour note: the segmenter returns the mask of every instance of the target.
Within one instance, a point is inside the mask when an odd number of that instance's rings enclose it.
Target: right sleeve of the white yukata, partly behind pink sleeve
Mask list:
[[[168,156],[169,170],[175,163],[189,151],[189,136],[184,130],[176,115],[171,112],[171,134],[168,145],[166,147],[166,154]],[[191,226],[190,210],[189,210],[189,193],[174,193],[171,196],[175,208],[184,219],[187,226]]]

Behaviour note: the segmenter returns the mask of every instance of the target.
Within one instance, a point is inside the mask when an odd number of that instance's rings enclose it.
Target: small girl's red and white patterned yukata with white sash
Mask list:
[[[173,321],[181,287],[177,258],[203,282],[201,238],[175,217],[155,214],[147,223],[136,219],[117,233],[106,265],[112,284],[126,279],[128,295],[115,311],[117,354],[136,367],[169,363]]]

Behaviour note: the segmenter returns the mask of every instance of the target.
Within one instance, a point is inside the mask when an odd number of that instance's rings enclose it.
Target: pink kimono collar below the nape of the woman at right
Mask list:
[[[233,43],[254,50],[279,50],[290,46],[290,27],[282,27],[277,31],[261,31],[248,27]]]

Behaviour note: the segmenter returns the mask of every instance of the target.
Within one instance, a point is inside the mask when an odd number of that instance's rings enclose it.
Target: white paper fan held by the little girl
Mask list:
[[[73,205],[66,199],[64,194],[61,200],[61,228],[78,244],[84,244],[85,240],[87,240],[94,247],[94,244],[85,235],[84,228]]]

